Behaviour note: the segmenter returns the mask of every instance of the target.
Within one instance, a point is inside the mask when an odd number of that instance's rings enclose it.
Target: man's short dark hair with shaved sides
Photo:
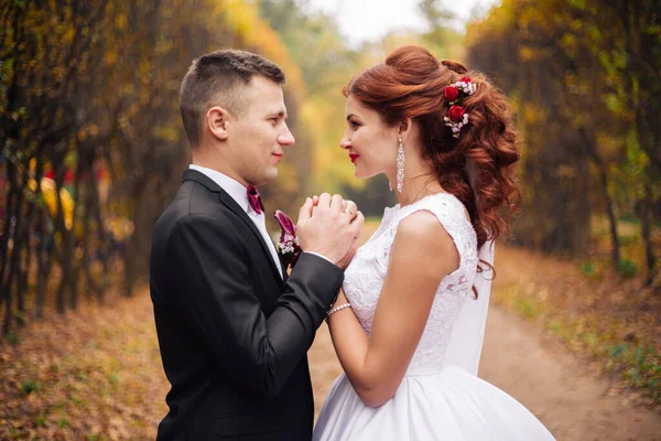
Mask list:
[[[253,76],[261,75],[277,84],[285,83],[284,73],[273,62],[247,51],[216,51],[195,58],[180,89],[180,111],[184,130],[196,148],[207,110],[220,106],[236,117],[246,110],[241,89]]]

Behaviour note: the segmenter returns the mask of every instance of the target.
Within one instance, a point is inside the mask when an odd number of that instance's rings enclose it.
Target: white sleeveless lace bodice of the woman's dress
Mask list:
[[[464,301],[473,299],[476,275],[477,238],[466,218],[464,205],[453,195],[438,193],[400,207],[386,208],[381,225],[358,249],[345,271],[344,291],[360,324],[371,332],[377,303],[390,261],[390,249],[399,223],[419,211],[429,211],[454,239],[459,254],[459,268],[441,281],[426,326],[413,354],[408,375],[433,372],[443,365],[449,345],[452,329]],[[420,262],[424,265],[424,262]],[[414,277],[414,275],[411,275]]]

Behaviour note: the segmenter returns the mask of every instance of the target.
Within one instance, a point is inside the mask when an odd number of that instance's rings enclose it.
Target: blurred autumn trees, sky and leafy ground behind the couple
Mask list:
[[[658,0],[3,0],[0,438],[153,438],[167,385],[148,260],[189,162],[177,96],[193,58],[234,47],[278,63],[296,146],[267,211],[338,192],[369,233],[394,198],[383,176],[353,176],[340,90],[402,44],[511,98],[523,203],[492,303],[648,412],[626,439],[653,439],[636,427],[661,406]]]

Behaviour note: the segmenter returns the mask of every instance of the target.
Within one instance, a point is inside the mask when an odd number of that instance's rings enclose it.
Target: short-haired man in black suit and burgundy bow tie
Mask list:
[[[286,276],[256,186],[278,178],[286,123],[282,71],[242,51],[195,60],[180,107],[192,148],[153,232],[150,288],[172,388],[159,440],[310,440],[306,352],[364,223],[339,196],[301,208],[304,252]]]

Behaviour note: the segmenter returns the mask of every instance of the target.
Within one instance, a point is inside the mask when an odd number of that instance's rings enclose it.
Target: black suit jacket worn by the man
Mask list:
[[[159,218],[150,290],[170,412],[159,440],[310,440],[306,352],[344,279],[303,254],[283,281],[243,209],[194,170]]]

